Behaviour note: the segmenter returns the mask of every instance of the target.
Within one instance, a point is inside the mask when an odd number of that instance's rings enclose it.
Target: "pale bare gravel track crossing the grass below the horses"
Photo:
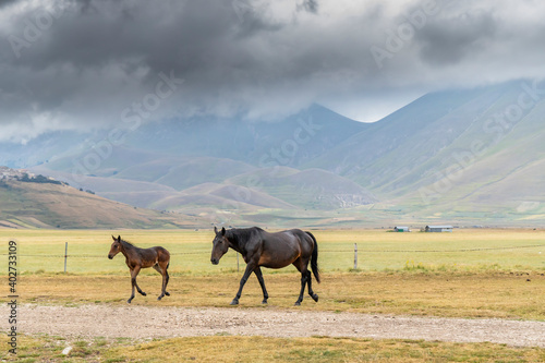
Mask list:
[[[545,323],[386,316],[355,313],[243,307],[148,307],[20,305],[17,330],[66,338],[133,339],[211,336],[355,337],[491,341],[545,348]],[[8,329],[7,319],[0,328]]]

